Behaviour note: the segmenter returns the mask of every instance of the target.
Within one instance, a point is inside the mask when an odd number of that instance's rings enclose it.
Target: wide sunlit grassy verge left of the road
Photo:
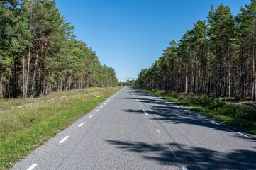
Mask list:
[[[0,169],[10,169],[23,156],[30,154],[120,89],[79,89],[28,98],[26,101],[1,101]]]

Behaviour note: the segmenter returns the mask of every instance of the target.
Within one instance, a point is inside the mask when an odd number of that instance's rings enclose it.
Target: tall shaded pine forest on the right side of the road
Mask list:
[[[233,16],[229,6],[211,6],[207,21],[197,21],[178,42],[169,43],[135,85],[255,101],[256,1]]]

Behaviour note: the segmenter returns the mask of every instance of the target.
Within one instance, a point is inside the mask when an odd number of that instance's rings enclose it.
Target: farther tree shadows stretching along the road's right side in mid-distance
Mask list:
[[[150,94],[146,94],[143,91],[133,90],[135,91],[134,94],[142,96],[142,98],[139,98],[140,102],[142,103],[148,103],[150,104],[150,111],[145,111],[148,114],[154,115],[152,120],[156,120],[159,123],[172,123],[172,124],[189,124],[189,125],[198,125],[205,128],[212,128],[214,130],[220,130],[225,132],[230,132],[228,128],[233,130],[238,130],[236,128],[232,128],[226,124],[221,125],[215,125],[213,123],[209,123],[208,120],[205,120],[203,118],[199,118],[196,115],[199,115],[199,113],[196,113],[194,111],[186,112],[184,111],[184,108],[177,108],[176,104],[171,105],[167,101],[157,100],[155,98],[145,98],[145,96],[151,96]],[[131,93],[128,91],[128,93]],[[133,100],[134,102],[137,102],[136,97],[126,97],[126,98],[118,98],[121,100]],[[145,114],[141,109],[123,109],[125,112],[129,113],[136,113],[136,114]],[[203,115],[202,115],[203,116]],[[238,130],[239,131],[239,130]],[[244,138],[241,135],[237,135],[238,137]],[[247,139],[251,140],[252,142],[256,142],[255,139]],[[255,156],[256,157],[256,156]]]

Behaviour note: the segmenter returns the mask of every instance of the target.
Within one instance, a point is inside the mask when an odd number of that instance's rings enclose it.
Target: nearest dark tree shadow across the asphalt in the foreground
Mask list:
[[[148,144],[145,142],[105,140],[109,145],[115,145],[126,152],[135,152],[146,160],[156,164],[181,166],[186,164],[187,169],[256,169],[256,152],[238,149],[223,153],[201,147],[189,147],[176,143]],[[177,157],[169,150],[171,147]],[[189,153],[189,157],[187,154]],[[241,159],[247,160],[246,162]],[[195,163],[196,162],[196,163]]]

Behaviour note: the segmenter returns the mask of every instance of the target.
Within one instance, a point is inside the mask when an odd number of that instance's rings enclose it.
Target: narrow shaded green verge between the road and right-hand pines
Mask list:
[[[140,90],[256,135],[255,106],[247,106],[230,101],[226,102],[225,100],[211,98],[206,95],[150,89]]]

